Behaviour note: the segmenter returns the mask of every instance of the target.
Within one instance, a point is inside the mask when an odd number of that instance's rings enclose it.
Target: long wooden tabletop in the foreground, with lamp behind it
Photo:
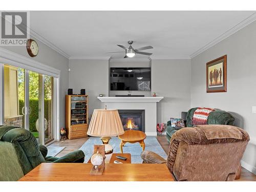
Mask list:
[[[174,181],[165,164],[105,164],[101,176],[90,175],[92,164],[41,163],[19,181]]]

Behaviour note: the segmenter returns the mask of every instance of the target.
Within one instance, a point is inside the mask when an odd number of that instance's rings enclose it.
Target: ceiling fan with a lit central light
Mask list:
[[[125,56],[123,58],[126,58],[126,57],[134,57],[136,54],[142,54],[142,55],[152,55],[152,53],[147,53],[147,52],[141,52],[142,50],[146,50],[146,49],[153,49],[152,46],[146,46],[146,47],[141,47],[141,48],[138,48],[138,49],[134,49],[132,47],[132,44],[133,44],[133,41],[132,40],[129,40],[128,41],[128,44],[130,45],[129,48],[126,48],[124,46],[121,46],[121,45],[117,45],[119,46],[120,48],[124,49],[125,51],[119,51],[119,52],[109,52],[109,53],[125,53]]]

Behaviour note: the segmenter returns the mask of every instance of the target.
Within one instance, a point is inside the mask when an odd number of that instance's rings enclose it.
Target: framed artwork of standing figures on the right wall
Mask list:
[[[206,63],[206,92],[227,92],[227,55]]]

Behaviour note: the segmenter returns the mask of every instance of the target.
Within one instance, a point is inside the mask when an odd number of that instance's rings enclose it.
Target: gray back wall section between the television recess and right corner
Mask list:
[[[163,96],[157,103],[157,122],[178,118],[190,108],[190,60],[152,59],[152,92]]]

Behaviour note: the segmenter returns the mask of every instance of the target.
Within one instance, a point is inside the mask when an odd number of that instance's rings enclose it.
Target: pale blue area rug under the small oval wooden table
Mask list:
[[[110,140],[110,144],[114,148],[114,153],[121,153],[120,152],[120,142],[121,140],[118,137],[112,137]],[[145,142],[145,150],[152,151],[157,153],[158,155],[162,156],[164,159],[167,158],[166,153],[164,152],[163,148],[157,141],[155,136],[147,136],[144,140]],[[87,163],[93,154],[93,146],[102,144],[99,137],[90,137],[80,148],[83,153],[86,155],[84,162]],[[123,146],[123,153],[130,153],[132,156],[132,163],[142,163],[142,159],[140,154],[142,152],[142,148],[139,143],[125,143]]]

